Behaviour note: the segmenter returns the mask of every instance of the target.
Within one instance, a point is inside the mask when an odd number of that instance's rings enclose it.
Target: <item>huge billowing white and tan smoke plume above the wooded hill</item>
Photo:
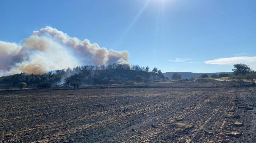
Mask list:
[[[0,76],[110,63],[129,64],[129,53],[100,48],[96,43],[69,37],[52,27],[34,31],[23,45],[0,41]]]

